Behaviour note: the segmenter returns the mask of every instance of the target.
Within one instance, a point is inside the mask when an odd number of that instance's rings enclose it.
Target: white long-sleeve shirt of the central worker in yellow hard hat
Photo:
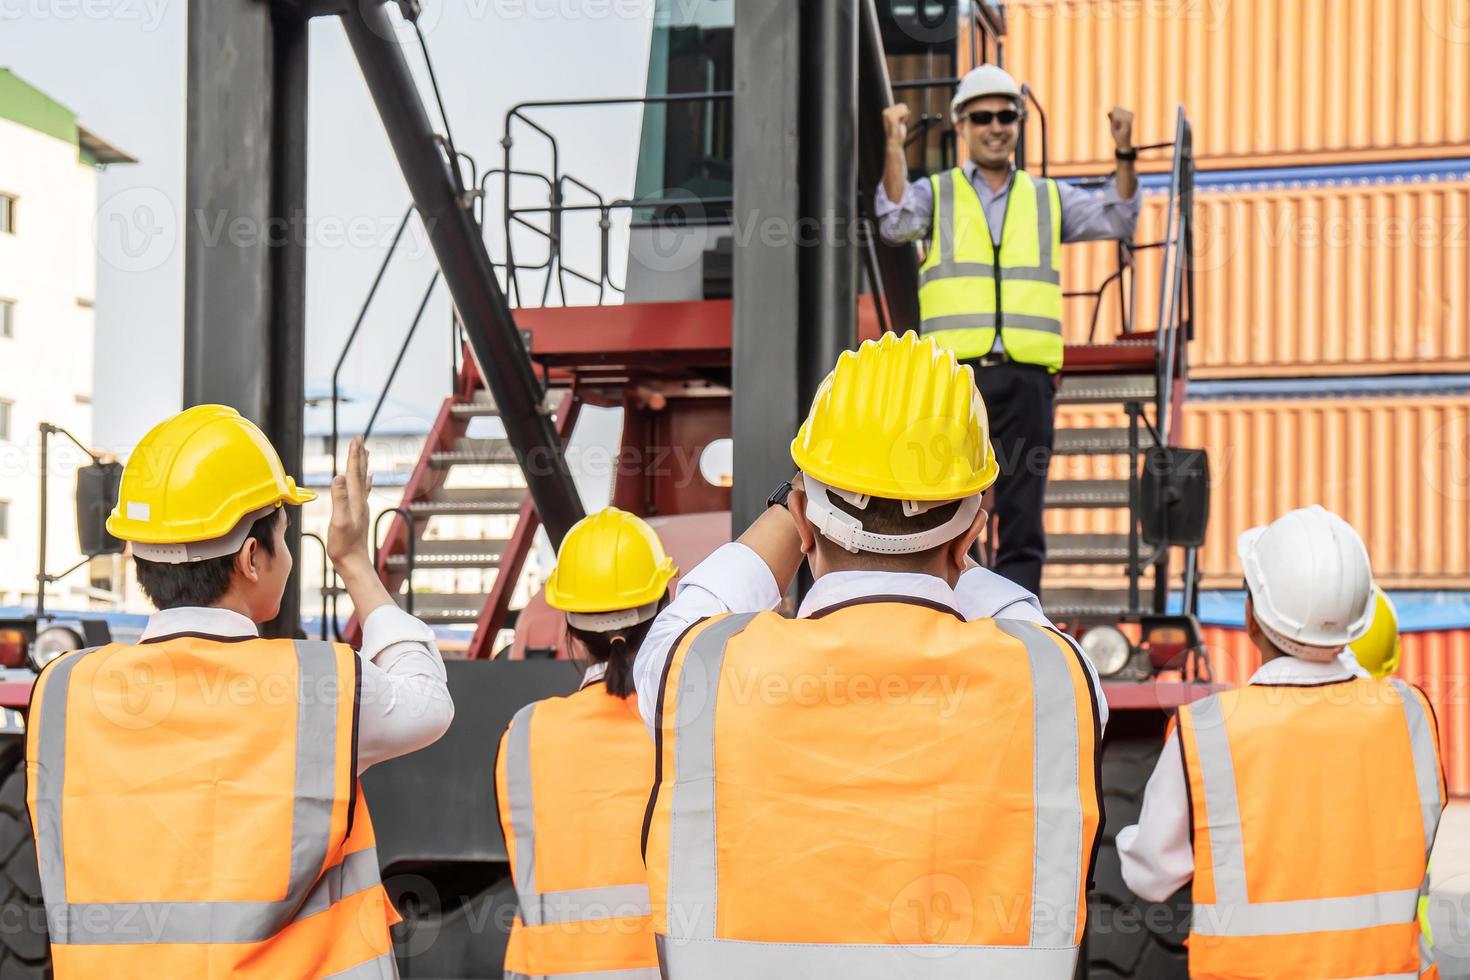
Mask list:
[[[811,585],[797,616],[806,619],[829,605],[870,595],[906,595],[947,605],[966,620],[1019,619],[1051,626],[1041,611],[1041,602],[1030,591],[1004,579],[989,569],[970,569],[951,589],[950,583],[932,574],[911,572],[832,572]],[[638,691],[638,713],[648,730],[654,730],[654,711],[663,669],[673,654],[679,636],[689,626],[720,613],[760,613],[781,605],[781,589],[766,561],[745,545],[723,545],[701,561],[679,582],[679,592],[654,620],[638,657],[634,660],[634,686]],[[1098,696],[1098,713],[1107,724],[1107,701],[1092,661],[1082,663]]]

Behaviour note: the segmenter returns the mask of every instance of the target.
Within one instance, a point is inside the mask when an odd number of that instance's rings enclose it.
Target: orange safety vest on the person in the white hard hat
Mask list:
[[[1252,685],[1179,710],[1191,977],[1438,977],[1416,918],[1445,807],[1402,680]]]

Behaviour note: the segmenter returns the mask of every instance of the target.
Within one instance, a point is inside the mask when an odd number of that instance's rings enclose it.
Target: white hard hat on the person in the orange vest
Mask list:
[[[1348,522],[1316,504],[1236,544],[1251,608],[1282,652],[1329,661],[1373,623],[1373,572]]]

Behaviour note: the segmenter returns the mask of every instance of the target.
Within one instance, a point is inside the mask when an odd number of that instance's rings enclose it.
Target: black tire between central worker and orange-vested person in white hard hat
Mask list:
[[[1138,823],[1144,786],[1164,745],[1164,721],[1151,711],[1119,711],[1102,742],[1105,821],[1094,889],[1088,893],[1089,980],[1188,980],[1189,886],[1167,902],[1145,902],[1123,883],[1117,832]]]

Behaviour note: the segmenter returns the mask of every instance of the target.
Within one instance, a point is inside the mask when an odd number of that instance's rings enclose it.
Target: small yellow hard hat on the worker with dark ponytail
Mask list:
[[[547,604],[579,629],[622,629],[653,619],[676,574],[654,529],[609,507],[566,532],[547,579]]]

